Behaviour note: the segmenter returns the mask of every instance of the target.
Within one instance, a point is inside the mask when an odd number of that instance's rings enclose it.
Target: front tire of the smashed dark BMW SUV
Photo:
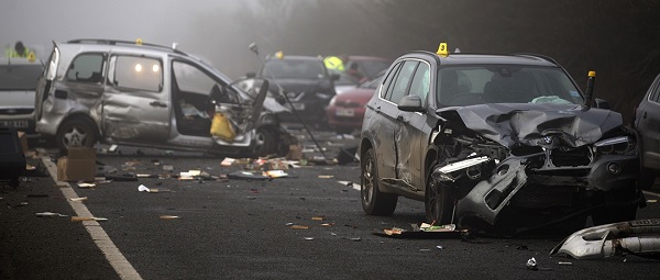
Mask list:
[[[453,201],[448,187],[436,182],[431,178],[431,173],[436,169],[436,165],[429,169],[426,181],[425,192],[425,213],[428,223],[435,225],[446,225],[452,222],[453,217]]]

